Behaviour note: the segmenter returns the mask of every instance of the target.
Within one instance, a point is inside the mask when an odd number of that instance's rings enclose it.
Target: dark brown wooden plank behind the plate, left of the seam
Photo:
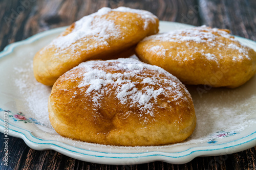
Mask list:
[[[199,26],[200,18],[196,1],[35,1],[10,0],[0,2],[0,51],[9,43],[26,39],[38,32],[71,25],[81,17],[102,7],[130,8],[151,11],[160,20],[177,21]],[[178,7],[178,8],[177,8]],[[5,12],[4,12],[5,11]]]

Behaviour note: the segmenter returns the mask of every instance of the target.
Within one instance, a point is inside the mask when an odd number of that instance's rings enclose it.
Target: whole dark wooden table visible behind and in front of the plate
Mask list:
[[[118,6],[145,9],[160,20],[226,28],[231,34],[256,41],[255,0],[0,0],[0,51],[38,32],[68,26],[101,7]],[[0,135],[2,159],[4,136]],[[198,157],[181,165],[152,162],[115,166],[83,162],[50,150],[36,151],[15,137],[9,137],[8,145],[9,164],[4,166],[0,160],[0,169],[256,169],[256,147],[235,154]]]

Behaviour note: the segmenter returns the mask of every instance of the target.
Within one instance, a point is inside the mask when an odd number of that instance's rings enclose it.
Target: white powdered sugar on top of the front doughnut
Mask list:
[[[113,64],[115,63],[115,64]],[[99,67],[99,68],[98,68]],[[122,70],[122,72],[111,72],[103,70],[107,67],[110,70]],[[116,89],[116,98],[121,104],[129,105],[131,108],[138,107],[140,111],[147,112],[154,116],[153,106],[157,103],[157,96],[164,95],[168,103],[175,101],[187,100],[181,89],[184,87],[178,79],[167,71],[158,66],[153,66],[140,62],[137,59],[117,59],[108,61],[88,61],[81,63],[77,67],[80,69],[78,78],[82,81],[79,82],[78,87],[83,90],[87,88],[86,93],[90,93],[94,106],[100,106],[100,101],[103,99],[103,94],[108,93],[107,85],[111,84]],[[156,74],[147,74],[145,70],[154,70]],[[75,80],[77,76],[67,72],[65,80]],[[159,80],[159,76],[164,74],[165,77]],[[132,79],[136,79],[134,82]],[[138,86],[139,85],[139,86]],[[152,86],[154,85],[154,86]],[[89,87],[88,87],[89,86]],[[142,87],[140,87],[142,86]]]

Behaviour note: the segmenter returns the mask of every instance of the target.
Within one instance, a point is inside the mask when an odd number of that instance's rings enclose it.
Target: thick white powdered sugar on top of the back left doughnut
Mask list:
[[[108,46],[110,39],[121,38],[119,26],[115,24],[114,20],[104,17],[105,14],[108,14],[111,11],[139,14],[144,21],[144,30],[148,28],[148,24],[150,22],[156,22],[156,16],[148,11],[131,9],[127,7],[119,7],[112,10],[110,8],[103,7],[98,10],[98,12],[84,16],[80,20],[76,21],[74,29],[71,33],[67,35],[62,33],[59,37],[54,39],[50,45],[54,45],[55,47],[59,48],[59,50],[65,50],[67,47],[71,47],[71,50],[73,50],[72,52],[75,53],[75,48],[82,45],[77,41],[87,38],[91,39],[92,42],[96,42],[88,44],[88,50],[94,47],[100,47],[102,45]]]

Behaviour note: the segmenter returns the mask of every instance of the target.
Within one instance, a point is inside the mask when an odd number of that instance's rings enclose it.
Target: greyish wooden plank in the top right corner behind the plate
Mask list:
[[[256,41],[256,1],[200,0],[202,24]]]

